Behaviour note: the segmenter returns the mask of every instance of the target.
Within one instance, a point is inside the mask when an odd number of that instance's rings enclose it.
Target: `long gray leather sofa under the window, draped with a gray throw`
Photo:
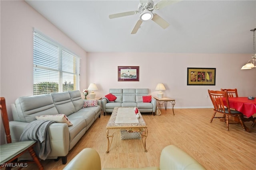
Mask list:
[[[66,164],[68,151],[100,117],[100,100],[98,106],[82,108],[83,105],[84,100],[79,90],[16,99],[15,104],[12,104],[14,121],[10,121],[12,142],[19,141],[23,129],[36,120],[36,116],[65,114],[73,125],[52,123],[49,126],[51,152],[46,159],[62,158],[62,163]],[[28,157],[25,155],[19,159]]]

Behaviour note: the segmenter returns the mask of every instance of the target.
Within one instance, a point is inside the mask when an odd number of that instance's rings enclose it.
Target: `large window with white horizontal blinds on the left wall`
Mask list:
[[[80,58],[34,29],[34,95],[79,89]]]

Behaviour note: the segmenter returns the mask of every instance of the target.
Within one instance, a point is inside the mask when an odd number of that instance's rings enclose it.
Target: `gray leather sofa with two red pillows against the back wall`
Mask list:
[[[125,88],[109,89],[109,93],[116,96],[114,102],[108,102],[106,98],[102,99],[102,110],[105,113],[112,113],[114,107],[138,107],[140,113],[156,111],[156,100],[151,99],[150,103],[143,102],[142,96],[149,96],[148,88]]]

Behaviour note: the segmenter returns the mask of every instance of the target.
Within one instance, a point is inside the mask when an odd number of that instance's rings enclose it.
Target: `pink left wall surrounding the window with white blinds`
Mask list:
[[[33,27],[78,55],[81,65],[86,65],[86,51],[25,1],[1,1],[0,96],[6,98],[11,120],[10,104],[19,96],[33,95]],[[81,67],[80,72],[80,86],[85,86],[86,67]]]

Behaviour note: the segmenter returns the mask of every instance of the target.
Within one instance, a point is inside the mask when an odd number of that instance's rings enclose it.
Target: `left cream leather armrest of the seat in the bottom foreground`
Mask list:
[[[100,155],[95,149],[85,148],[63,170],[101,170]]]

